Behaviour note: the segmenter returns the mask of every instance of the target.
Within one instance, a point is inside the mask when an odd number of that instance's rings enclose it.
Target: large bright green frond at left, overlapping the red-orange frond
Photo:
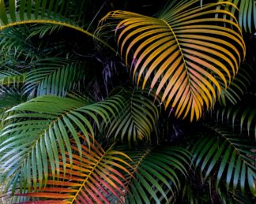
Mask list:
[[[115,97],[118,98],[118,97]],[[88,98],[58,98],[43,96],[24,102],[9,109],[13,114],[6,118],[6,126],[0,134],[0,162],[3,171],[3,180],[9,184],[27,187],[30,179],[26,172],[37,172],[33,177],[42,184],[47,180],[48,171],[55,176],[56,169],[60,168],[58,149],[62,155],[62,162],[66,162],[66,153],[72,164],[72,144],[76,142],[77,150],[82,155],[81,141],[77,132],[82,132],[88,145],[94,137],[93,125],[100,126],[97,116],[105,122],[121,109],[119,104],[104,102],[92,103]],[[48,165],[48,161],[50,165]],[[32,165],[32,167],[30,166]],[[65,165],[64,165],[65,167]],[[48,168],[50,170],[48,170]],[[57,170],[57,175],[59,171]]]

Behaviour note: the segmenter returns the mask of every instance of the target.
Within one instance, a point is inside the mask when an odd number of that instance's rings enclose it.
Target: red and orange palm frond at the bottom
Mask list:
[[[89,149],[85,136],[80,135],[80,138],[83,143],[82,158],[76,142],[71,141],[72,163],[70,160],[66,163],[61,161],[58,178],[49,176],[48,180],[43,180],[42,188],[34,180],[33,190],[21,196],[37,198],[34,200],[36,203],[110,203],[113,197],[123,202],[122,196],[126,193],[126,177],[123,172],[130,176],[128,168],[132,167],[126,162],[130,158],[113,150],[113,146],[104,150],[96,140],[89,145]],[[35,177],[31,170],[26,173]],[[25,200],[21,198],[20,202],[31,203]]]

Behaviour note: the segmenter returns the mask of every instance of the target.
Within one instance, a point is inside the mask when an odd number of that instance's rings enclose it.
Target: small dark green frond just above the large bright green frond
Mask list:
[[[85,62],[69,61],[62,58],[47,58],[36,63],[28,72],[24,93],[64,96],[85,77]]]

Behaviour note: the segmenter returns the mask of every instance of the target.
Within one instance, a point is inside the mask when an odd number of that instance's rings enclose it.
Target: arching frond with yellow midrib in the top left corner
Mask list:
[[[72,28],[108,46],[103,40],[85,30],[86,6],[86,1],[80,0],[1,1],[0,30],[20,24],[53,24]],[[111,48],[111,46],[108,47]]]

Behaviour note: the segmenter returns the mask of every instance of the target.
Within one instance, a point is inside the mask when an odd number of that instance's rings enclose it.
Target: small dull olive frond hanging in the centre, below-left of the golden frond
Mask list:
[[[135,143],[139,140],[150,141],[152,131],[156,127],[160,111],[141,91],[122,90],[122,109],[110,124],[106,124],[107,138]]]

